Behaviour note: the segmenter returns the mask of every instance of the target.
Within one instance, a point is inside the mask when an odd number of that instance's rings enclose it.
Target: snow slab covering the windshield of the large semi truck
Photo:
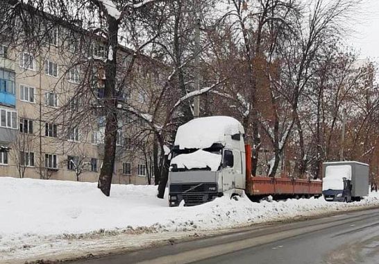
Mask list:
[[[176,164],[178,169],[202,169],[210,167],[212,172],[216,172],[221,165],[221,155],[213,154],[201,149],[190,154],[180,154],[171,160],[171,165]]]

